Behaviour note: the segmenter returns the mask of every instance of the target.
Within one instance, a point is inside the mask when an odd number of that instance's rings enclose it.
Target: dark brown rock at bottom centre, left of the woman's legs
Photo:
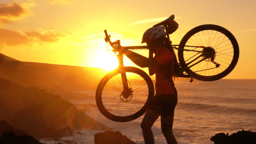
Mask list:
[[[95,144],[136,144],[120,131],[105,131],[94,135]]]

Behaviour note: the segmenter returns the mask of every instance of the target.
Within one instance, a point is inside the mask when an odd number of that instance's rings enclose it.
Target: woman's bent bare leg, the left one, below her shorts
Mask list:
[[[160,114],[157,111],[147,110],[144,118],[142,119],[141,128],[145,144],[154,144],[154,136],[151,127],[159,116]]]

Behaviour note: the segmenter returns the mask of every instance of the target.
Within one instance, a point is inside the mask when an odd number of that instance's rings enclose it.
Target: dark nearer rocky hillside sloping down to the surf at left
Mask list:
[[[81,128],[111,130],[59,95],[0,78],[0,120],[36,138],[72,136]]]

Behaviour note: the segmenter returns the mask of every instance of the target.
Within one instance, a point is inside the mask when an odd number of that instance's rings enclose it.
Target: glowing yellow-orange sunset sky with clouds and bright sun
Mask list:
[[[114,69],[118,61],[107,52],[104,29],[122,46],[142,45],[145,30],[174,14],[179,28],[170,35],[173,44],[196,26],[222,26],[240,48],[225,78],[256,79],[255,6],[255,0],[1,0],[0,53],[20,61]],[[134,66],[127,58],[124,64]]]

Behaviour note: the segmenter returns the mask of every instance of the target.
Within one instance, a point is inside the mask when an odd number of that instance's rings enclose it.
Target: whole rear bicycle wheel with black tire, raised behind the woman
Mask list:
[[[193,46],[205,46],[208,50],[214,49],[214,52],[211,50],[212,56],[220,64],[219,67],[207,58],[193,67],[185,69],[196,63],[196,61],[189,63],[189,60],[192,57],[195,58],[200,52],[193,53],[184,49],[189,48],[199,51],[202,49],[202,47],[195,48],[187,46],[191,46],[192,44]],[[188,75],[193,75],[195,79],[201,81],[214,81],[227,76],[236,66],[238,58],[239,46],[233,34],[221,26],[212,24],[201,25],[191,29],[181,39],[178,49],[178,59],[181,69],[185,69],[184,71]],[[203,56],[201,59],[203,59]],[[200,66],[200,64],[202,65]]]

